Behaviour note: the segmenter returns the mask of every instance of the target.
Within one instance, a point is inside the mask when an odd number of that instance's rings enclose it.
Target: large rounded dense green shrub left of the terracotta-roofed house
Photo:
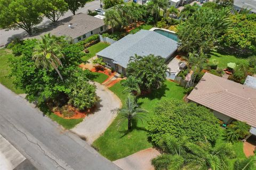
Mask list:
[[[205,141],[206,138],[212,144],[219,137],[218,119],[203,106],[162,99],[156,104],[154,112],[147,127],[148,137],[153,144],[158,143],[164,134],[175,138],[186,135],[191,142]]]

